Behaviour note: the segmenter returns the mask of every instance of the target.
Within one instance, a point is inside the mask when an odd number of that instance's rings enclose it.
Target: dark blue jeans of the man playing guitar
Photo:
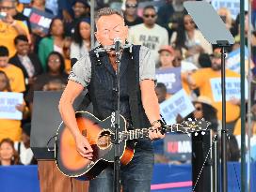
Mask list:
[[[136,150],[132,161],[120,168],[122,192],[150,192],[152,181],[152,150]],[[89,192],[113,192],[113,169],[107,168],[89,183]]]

